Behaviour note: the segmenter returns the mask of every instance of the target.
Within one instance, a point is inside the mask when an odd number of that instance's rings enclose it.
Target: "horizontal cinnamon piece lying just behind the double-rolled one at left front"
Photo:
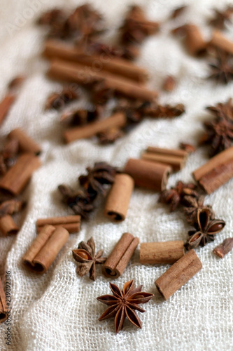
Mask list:
[[[64,227],[69,233],[76,233],[80,231],[80,216],[63,216],[51,218],[39,218],[36,220],[36,230],[41,232],[45,225],[52,225],[53,227]]]

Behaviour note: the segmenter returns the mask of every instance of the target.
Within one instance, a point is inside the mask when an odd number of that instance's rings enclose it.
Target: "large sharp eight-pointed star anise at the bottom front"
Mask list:
[[[99,321],[115,317],[115,332],[118,333],[125,322],[125,318],[129,322],[141,328],[141,320],[137,316],[135,310],[139,312],[146,312],[139,304],[148,303],[153,298],[153,293],[142,292],[142,285],[137,288],[134,287],[134,280],[126,282],[123,289],[120,290],[115,284],[109,283],[113,295],[104,295],[97,298],[101,303],[105,303],[109,307],[99,317]]]

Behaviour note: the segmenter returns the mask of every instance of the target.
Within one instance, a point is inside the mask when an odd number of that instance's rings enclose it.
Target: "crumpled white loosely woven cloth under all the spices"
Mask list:
[[[206,22],[211,17],[211,8],[223,7],[226,1],[185,2],[190,3],[185,16],[171,22],[167,21],[171,9],[184,1],[90,1],[104,14],[108,27],[113,28],[106,36],[108,41],[115,37],[114,29],[120,25],[128,4],[139,4],[150,19],[164,21],[160,33],[143,44],[139,62],[150,71],[151,88],[160,88],[167,74],[178,77],[175,91],[161,93],[160,101],[183,102],[187,107],[187,112],[177,119],[146,119],[115,145],[102,147],[96,140],[63,145],[59,114],[43,110],[48,94],[61,86],[45,77],[48,62],[39,55],[45,30],[34,25],[34,20],[48,8],[74,8],[84,1],[1,0],[0,98],[6,91],[6,84],[16,74],[28,76],[1,127],[1,140],[12,128],[20,126],[43,147],[43,166],[34,173],[24,194],[28,205],[21,217],[22,228],[16,237],[0,240],[0,275],[3,279],[5,271],[10,270],[12,281],[11,346],[5,344],[6,325],[1,324],[1,350],[233,350],[233,253],[223,260],[212,253],[217,244],[233,235],[233,180],[206,197],[206,204],[213,205],[216,217],[223,218],[227,225],[215,242],[197,249],[203,269],[174,296],[164,302],[154,284],[169,266],[141,265],[139,249],[122,277],[114,281],[122,287],[129,279],[135,279],[136,284],[143,284],[143,291],[155,294],[145,305],[146,313],[139,313],[143,322],[141,330],[126,322],[123,331],[115,335],[113,319],[97,321],[105,305],[96,298],[111,293],[111,280],[101,275],[100,267],[96,282],[78,277],[71,249],[76,248],[79,241],[93,236],[97,249],[104,248],[108,255],[123,232],[131,232],[141,242],[185,240],[189,227],[182,213],[169,213],[167,206],[157,203],[158,194],[134,190],[127,218],[119,224],[110,223],[103,216],[103,201],[90,220],[83,222],[80,233],[71,234],[55,263],[43,276],[27,272],[20,261],[36,237],[36,219],[68,213],[60,203],[57,185],[67,183],[75,187],[80,173],[95,161],[123,166],[129,157],[139,157],[148,145],[178,147],[181,141],[196,143],[203,131],[202,121],[211,118],[204,107],[225,102],[232,96],[233,83],[218,86],[205,80],[206,61],[192,58],[179,39],[169,34],[171,27],[187,19],[200,25],[209,38],[211,31]],[[229,26],[226,35],[232,37],[232,28]],[[74,105],[83,103],[84,100],[80,100]],[[169,186],[176,180],[191,181],[191,172],[207,159],[206,149],[197,150],[185,168],[169,178]]]

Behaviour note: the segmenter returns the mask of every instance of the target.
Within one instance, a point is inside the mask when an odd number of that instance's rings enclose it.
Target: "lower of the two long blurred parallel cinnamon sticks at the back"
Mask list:
[[[106,86],[129,98],[151,101],[157,97],[156,91],[136,84],[131,79],[119,77],[109,72],[93,72],[91,67],[84,68],[76,63],[52,60],[48,76],[53,79],[72,81],[79,84],[90,84],[93,81],[105,81]]]

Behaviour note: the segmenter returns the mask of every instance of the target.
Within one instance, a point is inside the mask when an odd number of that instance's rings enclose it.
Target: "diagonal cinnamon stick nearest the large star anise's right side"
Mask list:
[[[192,249],[176,261],[160,278],[155,280],[155,286],[164,300],[167,300],[201,269],[202,262]]]

